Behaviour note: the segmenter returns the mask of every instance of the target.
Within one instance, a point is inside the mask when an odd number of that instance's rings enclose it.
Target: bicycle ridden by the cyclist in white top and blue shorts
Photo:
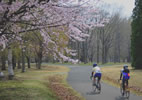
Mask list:
[[[100,83],[100,81],[98,81],[97,77],[95,78],[95,83],[92,78],[92,90],[94,93],[99,93],[99,94],[101,93],[101,83]]]

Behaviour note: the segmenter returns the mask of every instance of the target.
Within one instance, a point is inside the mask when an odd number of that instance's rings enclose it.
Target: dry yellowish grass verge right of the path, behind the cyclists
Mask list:
[[[131,91],[135,92],[138,95],[142,95],[142,70],[134,70],[132,67],[130,68],[130,80],[129,80],[129,86]],[[103,67],[102,73],[103,77],[102,79],[110,83],[114,86],[119,87],[120,84],[118,82],[118,79],[120,78],[120,70],[122,69],[122,65],[120,66],[111,66],[111,67]]]

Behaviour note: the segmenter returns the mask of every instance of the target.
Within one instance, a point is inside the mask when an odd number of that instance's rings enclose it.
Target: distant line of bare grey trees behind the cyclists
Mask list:
[[[109,18],[104,27],[86,30],[90,37],[83,42],[71,42],[77,58],[84,63],[130,62],[131,61],[131,18],[119,13],[109,15],[102,11],[100,18]]]

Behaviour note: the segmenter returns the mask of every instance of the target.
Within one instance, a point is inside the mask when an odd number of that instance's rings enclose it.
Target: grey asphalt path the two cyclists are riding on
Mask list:
[[[100,94],[92,92],[90,72],[92,67],[89,66],[68,66],[71,68],[67,81],[78,91],[86,100],[126,100],[120,94],[120,89],[101,82],[102,91]],[[130,94],[129,100],[142,100],[142,96]]]

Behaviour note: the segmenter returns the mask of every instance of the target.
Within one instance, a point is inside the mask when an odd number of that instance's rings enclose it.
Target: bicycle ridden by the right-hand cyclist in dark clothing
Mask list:
[[[119,81],[120,81],[120,80],[119,80]],[[121,95],[122,95],[123,97],[129,99],[129,97],[130,97],[130,89],[129,89],[129,87],[127,86],[126,82],[125,82],[124,86],[125,86],[125,90],[123,89],[123,83],[121,82],[121,83],[120,83],[120,93],[121,93]]]

